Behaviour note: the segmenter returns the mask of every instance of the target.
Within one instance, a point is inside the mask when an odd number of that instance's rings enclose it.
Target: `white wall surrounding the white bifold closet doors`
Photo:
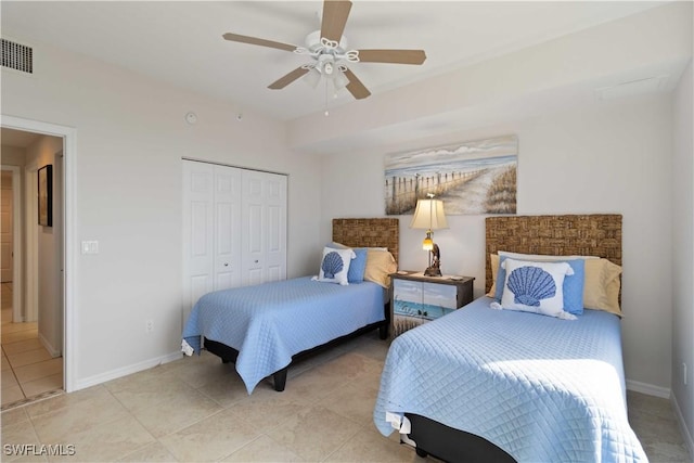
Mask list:
[[[179,350],[182,157],[288,173],[287,274],[313,271],[319,163],[285,149],[281,123],[35,44],[34,76],[2,70],[2,114],[76,129],[75,236],[100,248],[75,258],[77,388]]]

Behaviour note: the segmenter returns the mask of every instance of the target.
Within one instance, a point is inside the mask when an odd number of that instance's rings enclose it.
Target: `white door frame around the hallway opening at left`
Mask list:
[[[63,388],[75,390],[75,364],[79,351],[76,327],[77,310],[75,288],[77,287],[76,246],[76,197],[77,197],[77,130],[73,127],[2,114],[0,125],[10,129],[24,130],[63,139]],[[28,198],[27,198],[28,200]],[[29,247],[27,246],[27,253]],[[35,258],[26,256],[27,259]]]

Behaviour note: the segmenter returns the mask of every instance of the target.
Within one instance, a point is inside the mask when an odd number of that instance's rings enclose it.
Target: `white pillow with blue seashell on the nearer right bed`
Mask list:
[[[534,262],[506,259],[501,308],[574,320],[564,311],[564,278],[574,274],[567,262]]]

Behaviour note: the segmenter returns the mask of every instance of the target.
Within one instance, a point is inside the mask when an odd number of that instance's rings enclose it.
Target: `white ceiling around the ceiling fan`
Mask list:
[[[357,63],[380,93],[503,53],[663,4],[647,1],[370,1],[355,0],[345,28],[350,49],[424,49],[422,66]],[[305,62],[281,50],[234,43],[224,33],[297,46],[320,26],[320,1],[7,1],[3,38],[50,43],[291,120],[321,113],[325,92],[295,81],[267,86]],[[331,106],[358,105],[343,90]]]

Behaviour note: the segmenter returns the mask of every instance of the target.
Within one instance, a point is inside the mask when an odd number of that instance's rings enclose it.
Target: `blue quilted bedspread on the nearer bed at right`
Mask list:
[[[408,412],[481,436],[518,462],[646,462],[627,419],[619,319],[586,310],[560,320],[491,301],[393,342],[378,430],[394,430],[386,412],[394,421]]]

